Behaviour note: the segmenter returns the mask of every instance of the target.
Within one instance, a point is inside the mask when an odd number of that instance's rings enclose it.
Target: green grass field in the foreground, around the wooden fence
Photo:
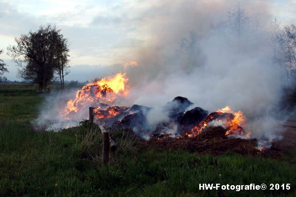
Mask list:
[[[30,85],[0,85],[0,197],[296,196],[295,154],[275,160],[163,151],[135,147],[132,138],[116,131],[118,150],[103,166],[102,136],[95,128],[34,131],[31,121],[45,96]],[[265,183],[267,189],[205,191],[200,183]],[[290,183],[291,189],[269,190],[271,183]]]

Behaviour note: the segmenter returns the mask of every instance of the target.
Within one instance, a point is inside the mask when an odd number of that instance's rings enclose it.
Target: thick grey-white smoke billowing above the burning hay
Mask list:
[[[237,2],[164,0],[155,9],[138,13],[148,17],[150,25],[133,25],[143,28],[151,42],[130,51],[138,65],[126,68],[130,93],[120,104],[157,107],[182,96],[210,112],[228,105],[247,116],[244,129],[253,137],[267,142],[280,139],[283,129],[271,112],[281,98],[284,81],[282,70],[272,64],[269,24],[273,13],[268,5],[243,1],[248,20],[240,33],[223,23],[210,29],[211,23],[227,21],[228,8]],[[61,103],[60,98],[56,100]],[[37,122],[55,118],[59,107],[55,103],[42,110]],[[150,126],[168,119],[161,108],[151,110],[147,118]]]

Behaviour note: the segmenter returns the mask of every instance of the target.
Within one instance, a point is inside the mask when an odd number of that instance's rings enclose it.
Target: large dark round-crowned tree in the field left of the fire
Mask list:
[[[57,56],[69,51],[60,47],[64,40],[60,31],[55,26],[41,26],[36,32],[15,37],[16,45],[7,47],[8,55],[20,66],[18,77],[38,84],[39,92],[45,92],[52,81],[58,67]]]

